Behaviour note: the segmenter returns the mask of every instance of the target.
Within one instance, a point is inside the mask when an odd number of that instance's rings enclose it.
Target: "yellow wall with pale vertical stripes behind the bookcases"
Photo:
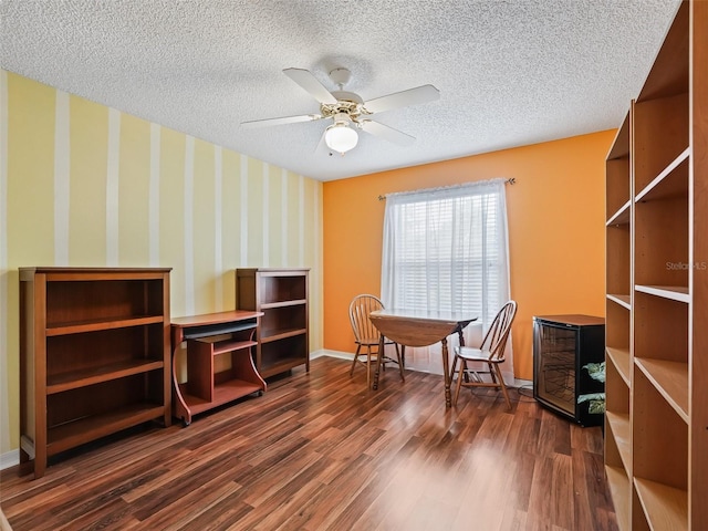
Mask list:
[[[170,267],[173,316],[236,308],[236,268],[311,268],[322,348],[322,183],[0,70],[0,455],[24,266]]]

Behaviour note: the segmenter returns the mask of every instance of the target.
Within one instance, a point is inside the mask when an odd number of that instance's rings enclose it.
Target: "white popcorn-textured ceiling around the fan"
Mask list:
[[[3,69],[320,180],[613,128],[677,0],[2,0]],[[365,101],[431,83],[440,100],[375,115],[315,149],[329,122],[282,70],[334,67]]]

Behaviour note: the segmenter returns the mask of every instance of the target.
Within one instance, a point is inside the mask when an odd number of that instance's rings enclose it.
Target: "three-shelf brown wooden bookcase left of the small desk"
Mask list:
[[[171,420],[169,269],[20,269],[20,461]],[[22,467],[25,468],[25,467]]]

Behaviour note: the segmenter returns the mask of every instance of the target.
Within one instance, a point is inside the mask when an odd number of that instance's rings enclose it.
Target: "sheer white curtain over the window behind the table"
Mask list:
[[[479,344],[510,299],[508,257],[504,179],[386,196],[386,308],[471,312],[478,321],[465,330],[465,343]],[[450,358],[458,344],[457,335],[448,339]],[[407,347],[406,367],[442,374],[440,344]],[[511,342],[501,368],[513,384]]]

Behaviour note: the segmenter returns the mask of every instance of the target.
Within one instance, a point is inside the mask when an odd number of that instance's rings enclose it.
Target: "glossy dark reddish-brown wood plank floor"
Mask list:
[[[321,357],[261,397],[65,456],[33,480],[0,475],[22,530],[614,530],[600,428],[512,391]]]

